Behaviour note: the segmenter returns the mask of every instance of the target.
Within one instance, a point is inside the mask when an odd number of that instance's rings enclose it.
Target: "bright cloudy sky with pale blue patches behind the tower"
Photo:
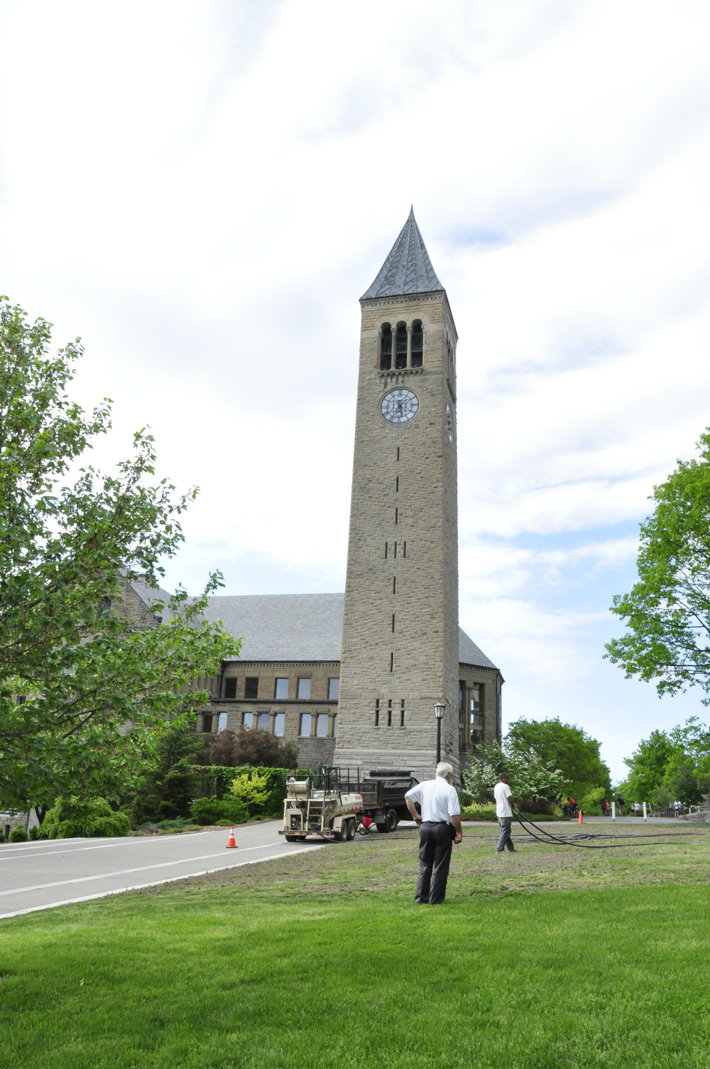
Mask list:
[[[410,204],[459,334],[460,622],[615,779],[690,715],[603,660],[710,424],[710,9],[0,0],[0,292],[196,484],[167,585],[343,590],[360,307]]]

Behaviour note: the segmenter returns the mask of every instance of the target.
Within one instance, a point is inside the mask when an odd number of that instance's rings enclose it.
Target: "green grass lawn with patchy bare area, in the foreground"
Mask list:
[[[467,827],[436,909],[403,831],[11,918],[6,1064],[705,1069],[710,835],[683,831],[495,855]]]

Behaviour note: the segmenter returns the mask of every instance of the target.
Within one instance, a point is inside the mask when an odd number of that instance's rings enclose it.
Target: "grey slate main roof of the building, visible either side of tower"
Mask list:
[[[241,661],[340,661],[345,594],[217,594],[207,620],[241,638]],[[459,661],[495,665],[459,628]]]

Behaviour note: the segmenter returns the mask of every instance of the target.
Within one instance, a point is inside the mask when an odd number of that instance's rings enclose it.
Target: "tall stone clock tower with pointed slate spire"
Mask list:
[[[362,327],[334,764],[458,773],[456,341],[413,211]]]

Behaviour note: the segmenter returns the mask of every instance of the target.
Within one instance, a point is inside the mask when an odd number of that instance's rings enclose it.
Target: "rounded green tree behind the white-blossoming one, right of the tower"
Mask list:
[[[551,721],[515,721],[506,735],[510,753],[532,750],[543,764],[559,769],[566,789],[581,797],[595,787],[611,791],[611,774],[599,754],[597,739],[573,724]]]

